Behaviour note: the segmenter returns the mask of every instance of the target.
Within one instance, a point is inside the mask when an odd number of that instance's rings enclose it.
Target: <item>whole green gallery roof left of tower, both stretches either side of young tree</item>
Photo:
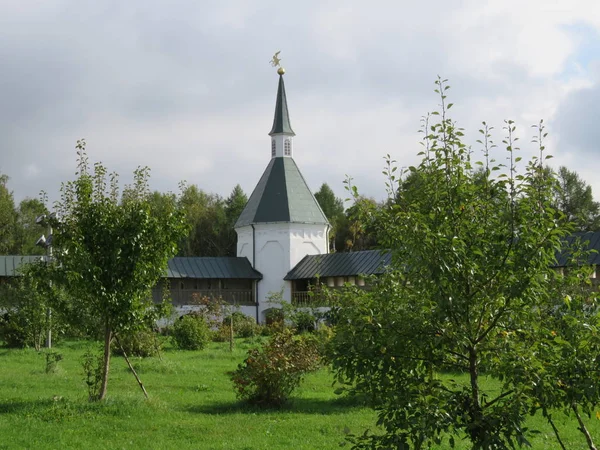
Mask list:
[[[39,261],[40,256],[0,256],[0,277],[19,275],[19,266]],[[167,263],[167,278],[243,278],[260,280],[262,274],[254,270],[248,258],[190,257],[172,258]]]

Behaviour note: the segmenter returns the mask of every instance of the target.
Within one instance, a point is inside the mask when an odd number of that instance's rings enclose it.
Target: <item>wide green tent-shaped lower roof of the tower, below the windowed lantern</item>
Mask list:
[[[293,158],[272,158],[235,227],[254,223],[328,224]]]

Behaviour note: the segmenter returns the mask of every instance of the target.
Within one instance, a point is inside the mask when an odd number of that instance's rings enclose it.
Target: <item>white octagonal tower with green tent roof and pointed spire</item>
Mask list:
[[[257,319],[273,293],[291,301],[290,281],[283,278],[306,255],[328,251],[329,223],[293,159],[295,136],[279,67],[279,86],[271,136],[271,160],[236,224],[237,256],[246,257],[262,273],[257,285]]]

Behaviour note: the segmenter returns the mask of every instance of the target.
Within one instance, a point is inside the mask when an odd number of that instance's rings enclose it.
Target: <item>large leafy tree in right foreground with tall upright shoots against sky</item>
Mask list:
[[[445,438],[454,446],[465,435],[476,449],[526,445],[523,422],[537,404],[520,374],[539,361],[531,342],[544,321],[555,249],[568,232],[551,207],[553,180],[543,175],[543,126],[540,155],[523,167],[515,125],[506,122],[502,170],[484,125],[482,176],[447,117],[446,89],[438,80],[441,110],[425,119],[423,160],[409,169],[419,183],[398,198],[388,158],[388,192],[397,201],[363,215],[392,250],[394,270],[341,302],[349,306],[340,310],[334,367],[373,400],[384,428],[358,438],[357,448],[423,448]],[[484,374],[497,384],[482,384]]]

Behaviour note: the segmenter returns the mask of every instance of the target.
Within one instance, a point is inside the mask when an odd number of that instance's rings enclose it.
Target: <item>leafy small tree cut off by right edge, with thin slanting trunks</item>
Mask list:
[[[537,356],[537,361],[530,364],[535,370],[527,370],[518,358],[510,362],[513,370],[519,368],[517,373],[524,384],[531,386],[563,449],[552,415],[557,409],[573,414],[588,447],[596,448],[582,417],[592,417],[600,404],[600,302],[598,290],[592,285],[595,267],[588,265],[591,255],[585,250],[586,237],[583,234],[569,239],[571,245],[563,249],[568,266],[555,272],[551,279],[543,312],[545,320],[536,339],[528,343]]]

